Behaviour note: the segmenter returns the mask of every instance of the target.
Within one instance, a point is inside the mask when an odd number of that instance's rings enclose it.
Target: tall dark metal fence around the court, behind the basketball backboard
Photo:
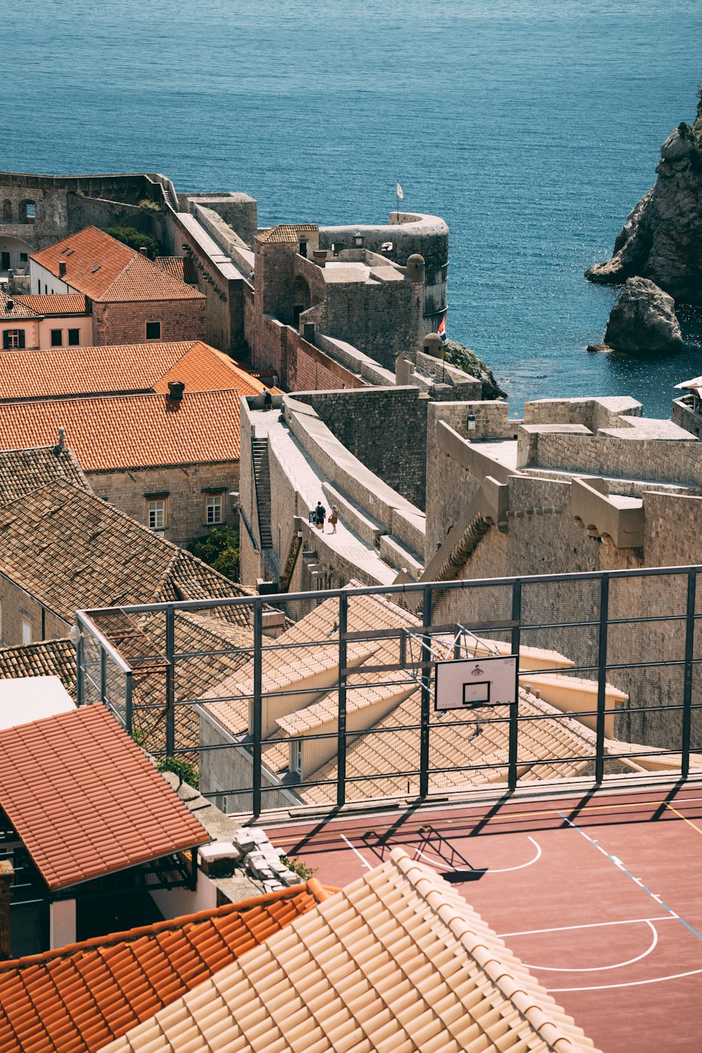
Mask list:
[[[81,611],[101,701],[229,812],[702,771],[702,567]],[[437,661],[519,656],[513,704],[438,712]],[[164,759],[167,758],[167,759]]]

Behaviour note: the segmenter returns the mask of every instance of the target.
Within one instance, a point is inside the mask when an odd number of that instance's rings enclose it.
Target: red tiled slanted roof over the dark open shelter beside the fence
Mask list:
[[[0,808],[53,890],[210,839],[100,704],[0,732]]]

